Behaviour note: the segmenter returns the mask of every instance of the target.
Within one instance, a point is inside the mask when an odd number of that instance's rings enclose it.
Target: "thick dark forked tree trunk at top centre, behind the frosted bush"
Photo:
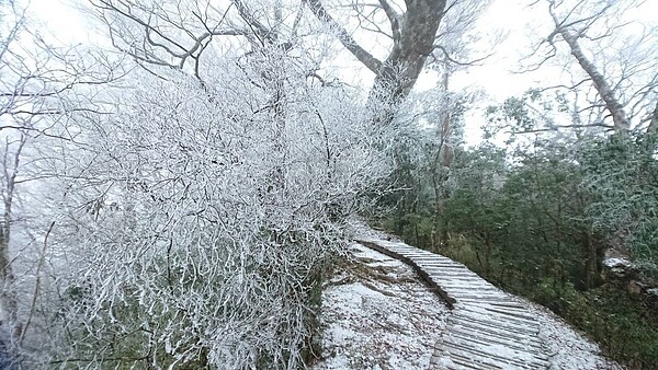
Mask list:
[[[366,44],[359,43],[350,32],[352,27],[339,22],[331,9],[321,0],[307,0],[311,12],[328,25],[341,44],[375,74],[370,92],[368,104],[372,120],[378,125],[393,122],[399,105],[406,100],[416,84],[428,57],[435,48],[434,39],[447,1],[419,0],[394,2],[379,0],[373,3],[349,1],[360,27],[356,32],[367,32],[383,36],[384,58],[377,58]],[[337,4],[337,7],[345,4]],[[382,26],[387,24],[387,26]],[[382,54],[382,53],[377,53]]]

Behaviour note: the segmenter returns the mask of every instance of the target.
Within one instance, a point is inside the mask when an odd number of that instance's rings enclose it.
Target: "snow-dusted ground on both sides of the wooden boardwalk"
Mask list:
[[[428,369],[450,310],[410,267],[354,244],[322,293],[324,369]],[[547,309],[521,298],[536,315],[551,369],[623,369]]]

